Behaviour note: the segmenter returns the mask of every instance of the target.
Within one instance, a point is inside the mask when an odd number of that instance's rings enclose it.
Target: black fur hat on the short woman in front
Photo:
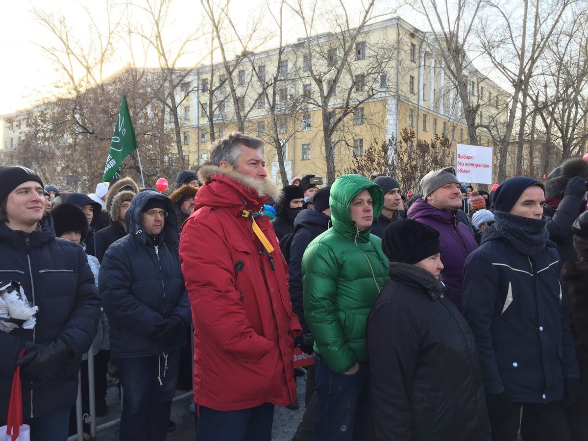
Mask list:
[[[439,232],[417,220],[396,220],[384,230],[382,250],[390,262],[414,265],[441,252]]]

